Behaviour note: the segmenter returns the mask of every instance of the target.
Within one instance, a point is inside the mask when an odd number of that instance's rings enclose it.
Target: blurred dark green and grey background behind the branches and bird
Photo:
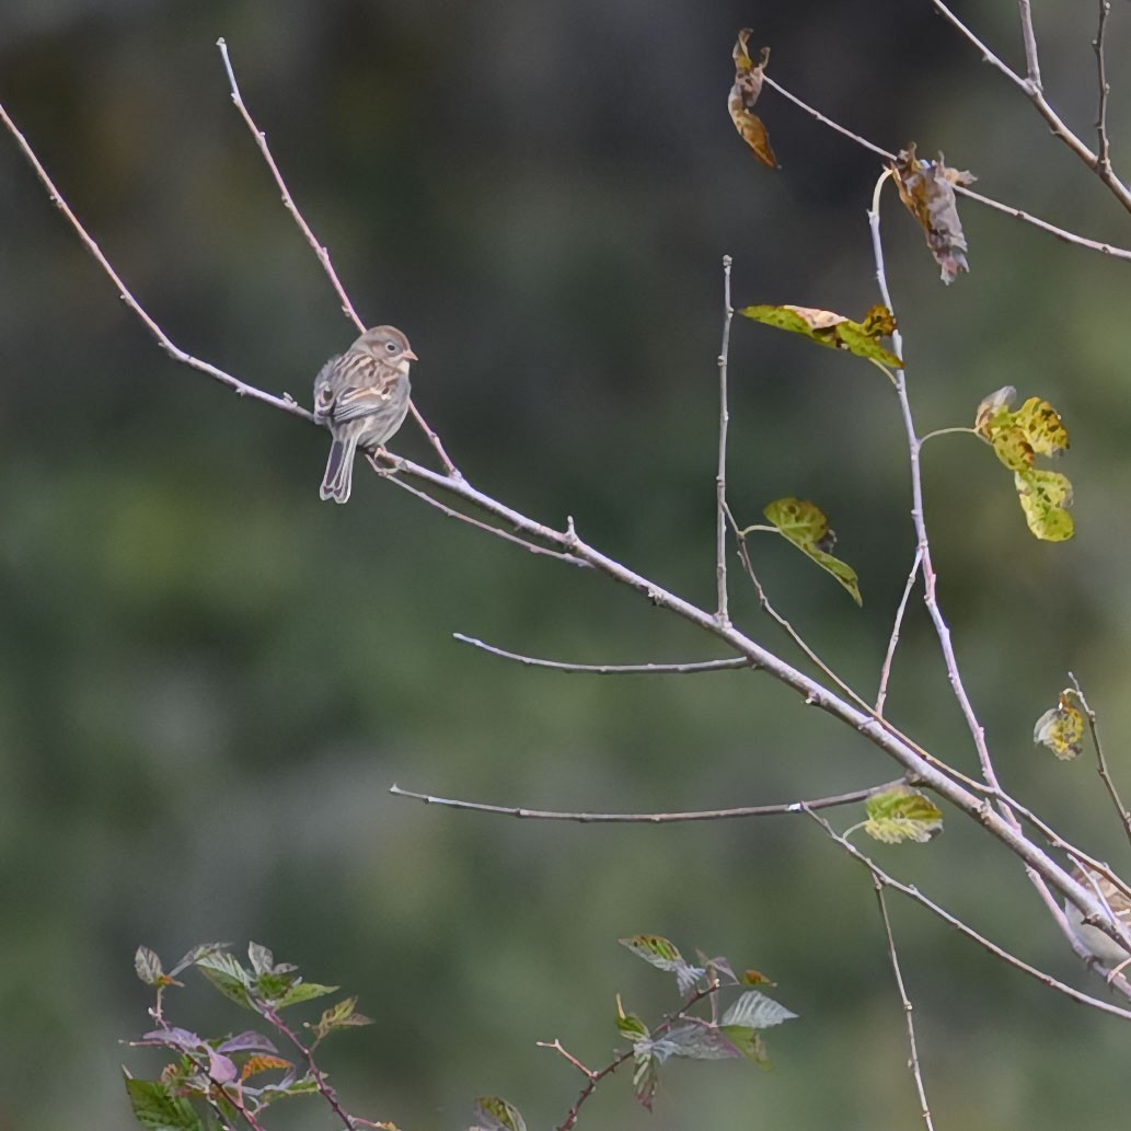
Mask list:
[[[1019,64],[1016,6],[964,7]],[[1094,12],[1035,7],[1047,89],[1090,140]],[[1115,7],[1120,60],[1131,14]],[[1131,243],[1099,183],[927,0],[2,0],[0,96],[175,342],[307,402],[353,330],[231,106],[226,36],[300,207],[362,317],[408,333],[417,403],[473,482],[552,524],[575,516],[709,604],[720,257],[740,304],[858,316],[877,300],[877,162],[767,92],[771,173],[727,118],[750,24],[778,81],[879,144],[943,149],[988,195]],[[1126,167],[1122,78],[1113,63]],[[1117,864],[1095,774],[1034,752],[1030,729],[1072,668],[1125,776],[1129,267],[973,206],[964,219],[972,271],[947,290],[886,197],[918,423],[967,423],[1005,383],[1051,399],[1079,533],[1035,543],[992,454],[932,443],[941,597],[1004,783]],[[803,819],[538,824],[387,793],[680,810],[854,788],[890,765],[765,676],[558,675],[455,644],[594,663],[718,654],[628,590],[363,468],[348,507],[321,503],[326,437],[172,363],[8,137],[0,221],[0,1129],[130,1126],[119,1065],[152,1067],[118,1044],[146,1027],[133,950],[171,961],[214,939],[265,942],[360,994],[378,1025],[325,1057],[360,1114],[458,1128],[475,1095],[500,1093],[550,1125],[580,1079],[534,1042],[599,1064],[615,992],[647,1017],[672,1001],[616,946],[641,931],[768,972],[802,1019],[770,1035],[771,1073],[674,1064],[650,1120],[616,1080],[588,1125],[916,1125],[871,886]],[[891,391],[866,363],[751,325],[735,326],[732,386],[740,520],[778,495],[817,500],[864,608],[784,543],[756,544],[760,575],[871,693],[914,546]],[[430,459],[412,428],[394,448]],[[793,658],[735,590],[740,623]],[[974,766],[918,602],[890,714]],[[1017,862],[966,823],[877,855],[1103,993]],[[1119,1022],[917,908],[893,915],[938,1125],[1123,1120]],[[209,1031],[247,1024],[196,979],[173,1008]],[[330,1125],[312,1104],[288,1119]]]

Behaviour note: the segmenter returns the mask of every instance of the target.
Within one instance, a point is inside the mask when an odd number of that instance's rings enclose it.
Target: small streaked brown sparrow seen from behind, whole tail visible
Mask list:
[[[334,437],[321,497],[349,498],[354,452],[378,448],[408,413],[408,363],[416,361],[408,338],[394,326],[374,326],[344,354],[331,357],[314,378],[314,420]]]

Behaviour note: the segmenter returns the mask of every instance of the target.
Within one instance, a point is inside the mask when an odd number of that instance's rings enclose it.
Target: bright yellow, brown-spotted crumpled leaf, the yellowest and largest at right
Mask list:
[[[1029,530],[1044,542],[1072,537],[1072,484],[1067,475],[1035,467],[1037,456],[1068,449],[1068,430],[1047,400],[1029,397],[1016,412],[1017,390],[1007,385],[991,392],[974,414],[974,430],[1013,473],[1013,485]]]

